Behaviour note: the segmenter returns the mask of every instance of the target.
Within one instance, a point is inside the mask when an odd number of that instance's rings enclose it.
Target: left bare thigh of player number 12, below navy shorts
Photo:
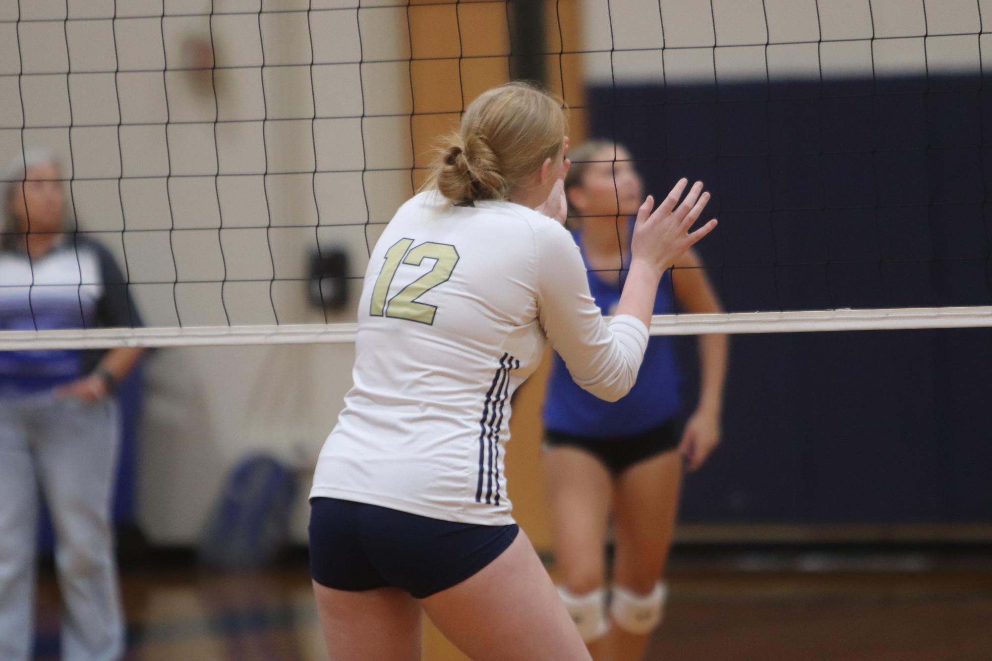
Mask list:
[[[421,606],[396,588],[333,590],[313,582],[320,626],[333,661],[418,661]]]

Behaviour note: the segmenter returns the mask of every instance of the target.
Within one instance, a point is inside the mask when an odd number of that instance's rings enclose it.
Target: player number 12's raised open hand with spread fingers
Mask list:
[[[702,181],[696,181],[680,204],[687,184],[687,179],[679,179],[657,209],[654,209],[654,197],[648,195],[644,200],[634,224],[633,260],[645,262],[663,272],[672,267],[692,244],[716,227],[714,218],[696,231],[689,232],[709,201],[709,193],[702,190]]]

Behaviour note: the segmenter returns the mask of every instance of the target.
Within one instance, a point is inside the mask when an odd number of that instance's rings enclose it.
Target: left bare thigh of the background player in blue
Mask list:
[[[576,594],[602,584],[611,477],[594,456],[567,446],[542,455],[545,492],[561,581]]]

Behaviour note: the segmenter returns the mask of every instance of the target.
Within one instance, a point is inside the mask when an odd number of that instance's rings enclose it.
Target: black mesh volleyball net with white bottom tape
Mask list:
[[[434,140],[522,59],[573,144],[626,145],[656,197],[712,191],[699,250],[728,311],[653,333],[992,325],[992,2],[541,11],[539,39],[502,0],[6,3],[0,164],[57,155],[67,229],[114,255],[146,327],[35,324],[0,349],[353,341],[371,247]]]

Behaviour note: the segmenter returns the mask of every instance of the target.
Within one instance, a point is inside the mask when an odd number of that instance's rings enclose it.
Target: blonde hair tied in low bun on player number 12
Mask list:
[[[560,100],[537,85],[493,87],[444,138],[424,188],[452,202],[509,199],[545,159],[560,154],[566,130]]]

